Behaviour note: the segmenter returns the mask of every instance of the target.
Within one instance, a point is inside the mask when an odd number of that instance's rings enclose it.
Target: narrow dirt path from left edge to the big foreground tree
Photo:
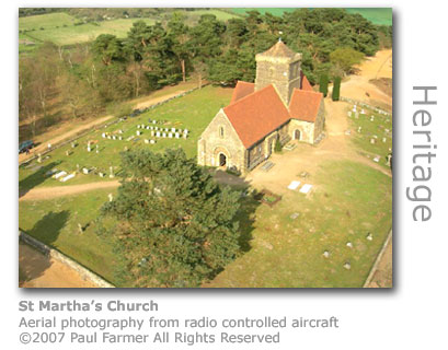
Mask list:
[[[19,198],[19,201],[22,200],[45,200],[53,199],[58,197],[66,197],[70,195],[78,195],[87,192],[94,189],[103,188],[116,188],[119,186],[118,180],[105,182],[105,183],[90,183],[82,185],[71,185],[71,186],[55,186],[55,187],[41,187],[33,188]]]

